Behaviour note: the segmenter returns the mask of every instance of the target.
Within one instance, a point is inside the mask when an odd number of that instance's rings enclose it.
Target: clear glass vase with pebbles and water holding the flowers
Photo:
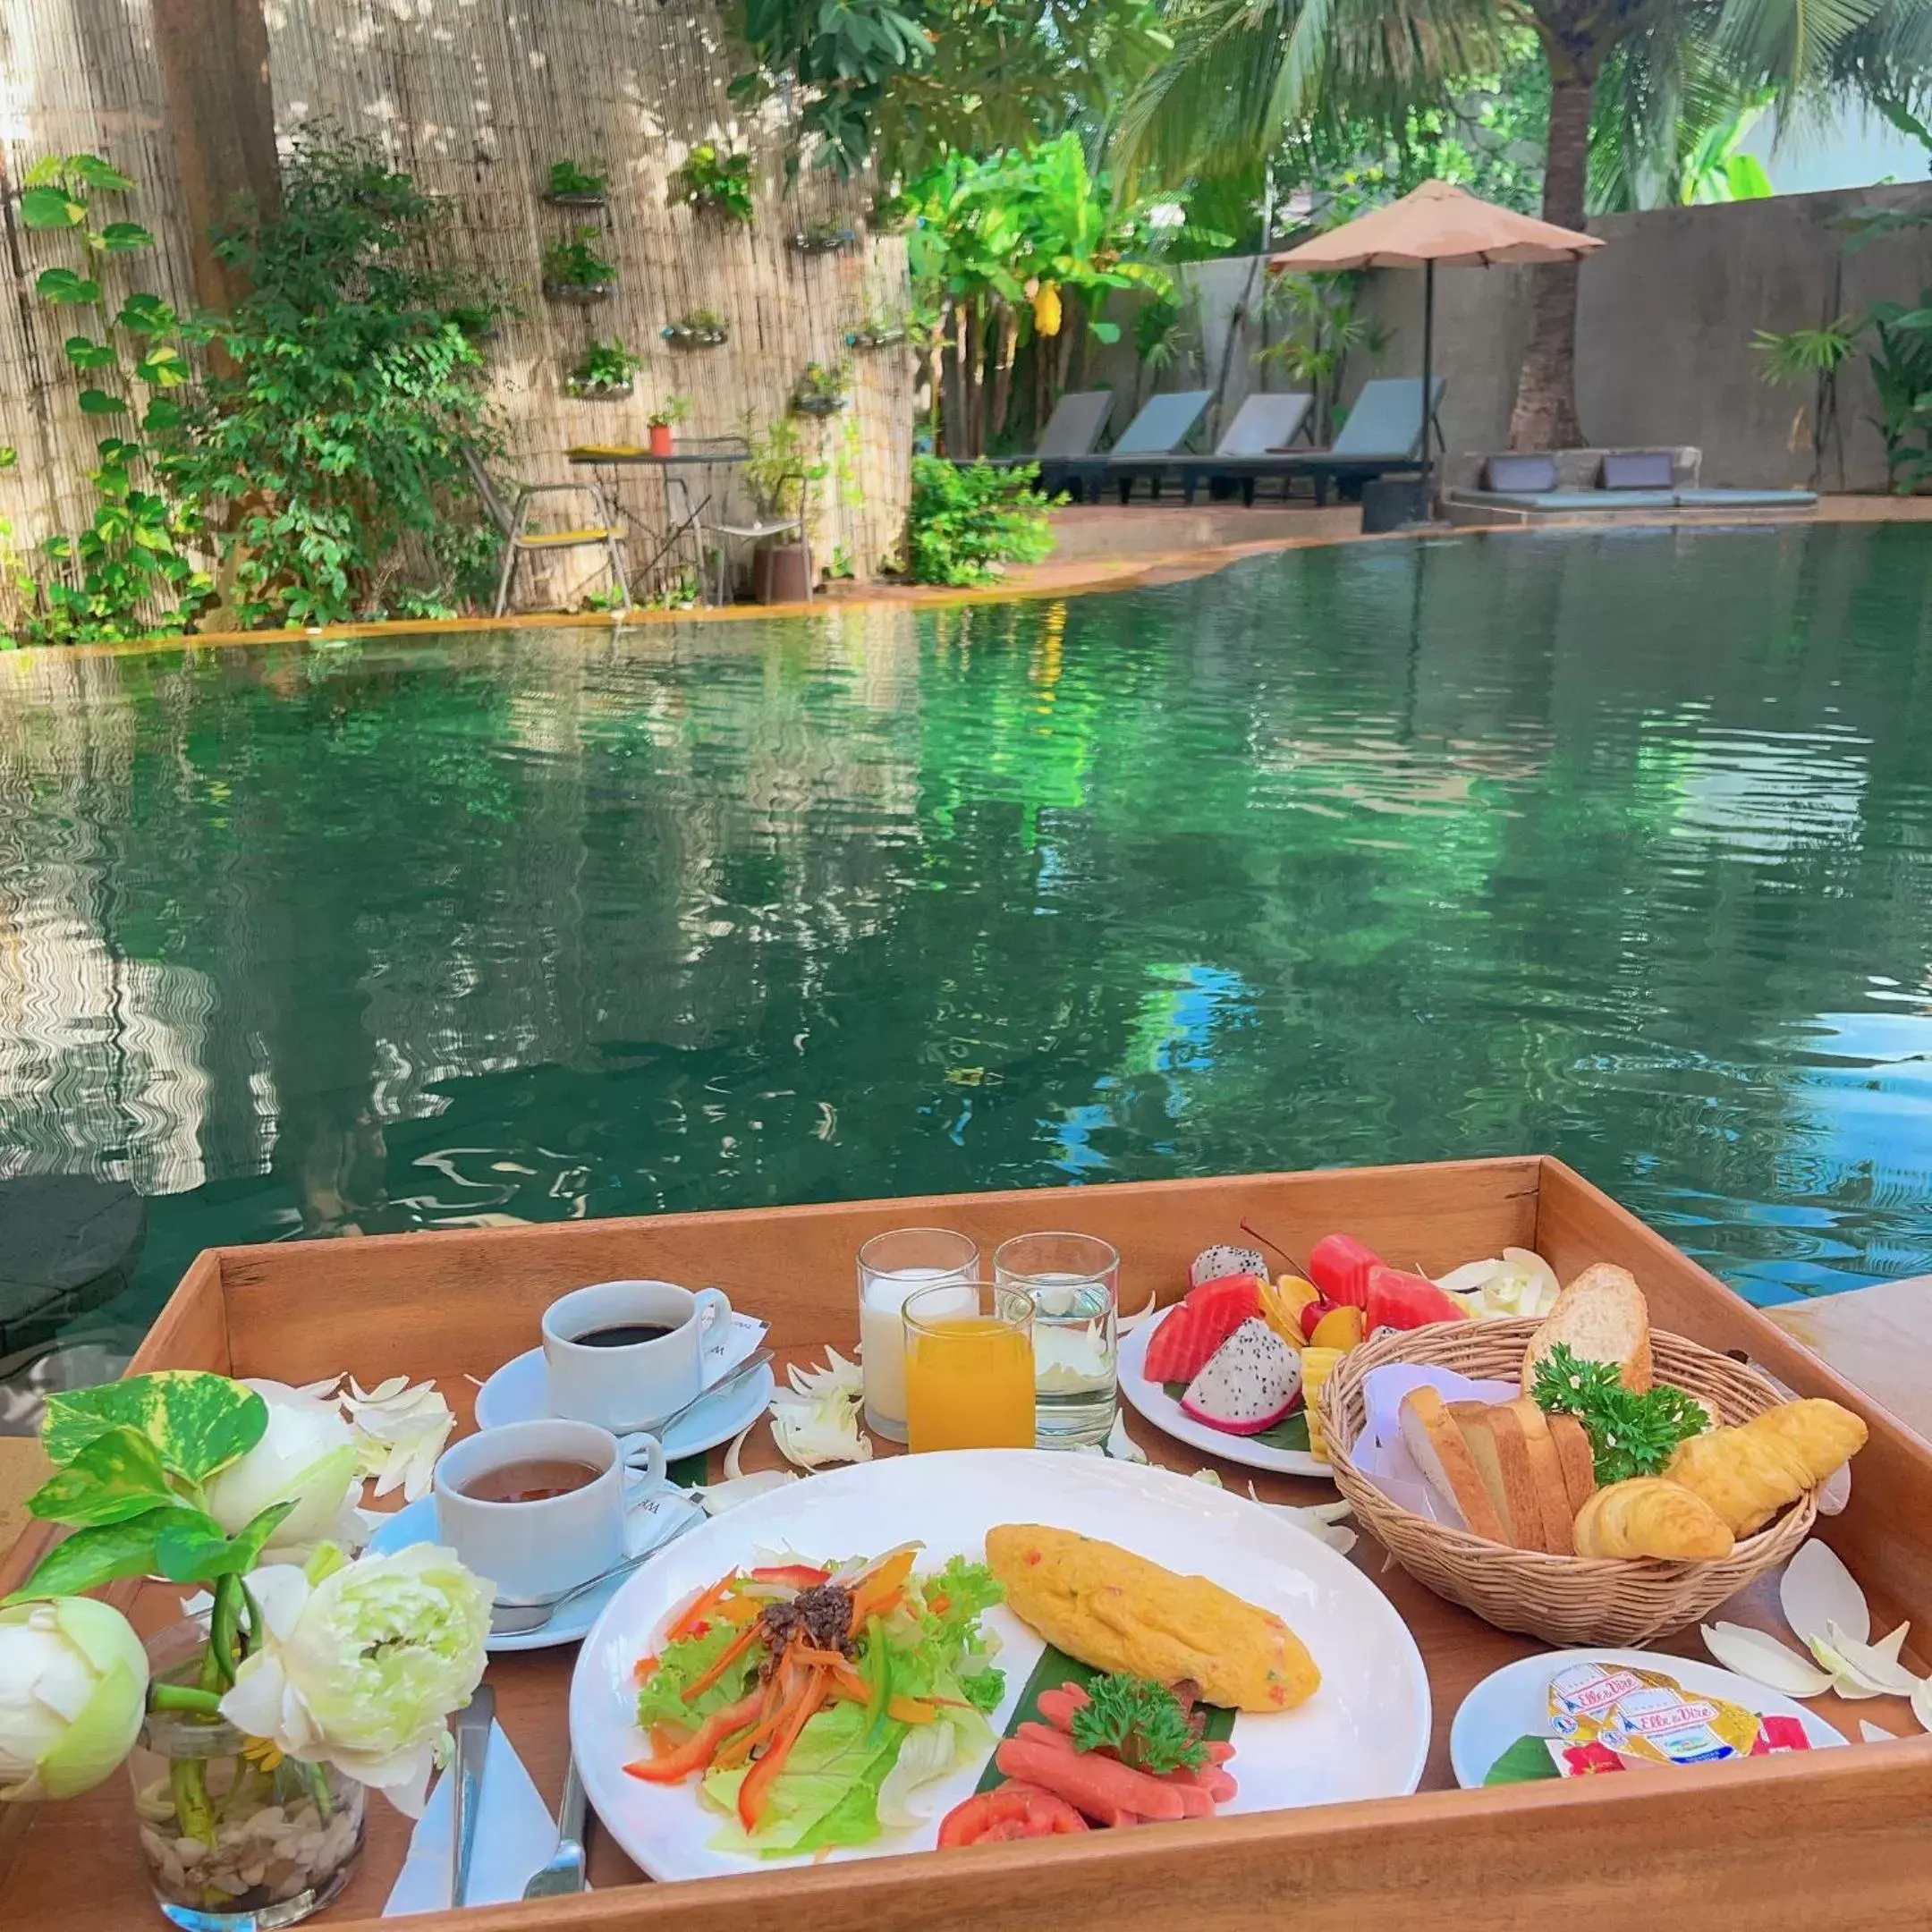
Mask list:
[[[156,1683],[193,1685],[207,1629],[149,1642]],[[274,1932],[348,1884],[365,1791],[328,1764],[278,1758],[234,1725],[151,1710],[128,1756],[135,1822],[162,1913],[187,1932]]]

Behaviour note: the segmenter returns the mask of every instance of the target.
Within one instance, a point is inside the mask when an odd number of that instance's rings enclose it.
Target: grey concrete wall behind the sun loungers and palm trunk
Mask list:
[[[1577,390],[1596,446],[1679,444],[1704,450],[1714,485],[1808,483],[1886,487],[1884,444],[1864,357],[1839,377],[1837,433],[1810,448],[1810,392],[1772,388],[1750,348],[1756,328],[1814,328],[1874,299],[1917,301],[1932,286],[1932,228],[1903,230],[1847,251],[1832,224],[1855,209],[1924,205],[1926,189],[1868,187],[1830,195],[1777,195],[1698,209],[1658,209],[1590,222],[1609,243],[1582,267],[1577,321]],[[1215,386],[1233,303],[1246,299],[1223,410],[1256,386],[1260,328],[1252,259],[1190,265],[1200,290],[1208,371]],[[1254,290],[1254,294],[1250,294]],[[1391,330],[1379,363],[1350,369],[1350,390],[1370,375],[1412,373],[1422,359],[1422,276],[1379,270],[1368,313]],[[1528,334],[1528,270],[1443,269],[1435,276],[1435,367],[1449,381],[1443,435],[1451,450],[1501,448],[1517,365]],[[1095,359],[1101,381],[1132,392],[1132,328]],[[1196,365],[1198,367],[1198,365]],[[1196,375],[1163,371],[1144,388],[1188,388]],[[1279,375],[1269,388],[1289,386]]]

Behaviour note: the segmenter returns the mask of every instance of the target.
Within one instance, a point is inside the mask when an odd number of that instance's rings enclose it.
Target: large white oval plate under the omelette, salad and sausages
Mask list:
[[[958,1449],[860,1463],[786,1484],[678,1538],[632,1577],[585,1638],[570,1681],[570,1743],[597,1816],[653,1878],[711,1878],[810,1859],[752,1861],[711,1849],[719,1814],[684,1785],[647,1785],[624,1764],[649,1745],[636,1725],[632,1667],[657,1650],[667,1617],[694,1592],[763,1551],[854,1557],[920,1540],[920,1571],[983,1557],[1001,1522],[1043,1522],[1101,1536],[1202,1575],[1283,1617],[1312,1652],[1321,1687],[1298,1710],[1235,1719],[1229,1770],[1240,1787],[1225,1812],[1281,1810],[1414,1791],[1430,1745],[1430,1683],[1389,1600],[1345,1557],[1244,1497],[1169,1470],[1037,1449]],[[1005,1607],[985,1613],[1001,1636],[1007,1694],[991,1714],[1005,1733],[1039,1662],[1041,1642]],[[889,1832],[833,1859],[929,1851],[939,1822],[972,1795],[976,1760],[920,1793],[918,1830]]]

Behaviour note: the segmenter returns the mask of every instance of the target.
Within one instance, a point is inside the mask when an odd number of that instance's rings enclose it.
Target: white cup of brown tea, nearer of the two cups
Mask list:
[[[493,1503],[464,1486],[512,1463],[582,1463],[597,1476],[580,1490],[527,1503]],[[641,1463],[641,1466],[639,1466]],[[639,1505],[665,1488],[655,1435],[622,1439],[595,1422],[506,1422],[452,1443],[431,1478],[437,1536],[498,1596],[551,1596],[649,1546]]]

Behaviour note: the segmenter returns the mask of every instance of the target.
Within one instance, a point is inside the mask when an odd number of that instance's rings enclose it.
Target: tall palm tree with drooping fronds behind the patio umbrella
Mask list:
[[[1173,54],[1126,104],[1115,158],[1126,178],[1219,174],[1296,122],[1441,100],[1522,27],[1549,70],[1544,216],[1563,228],[1588,213],[1592,122],[1602,168],[1646,143],[1675,151],[1719,79],[1735,106],[1750,87],[1855,83],[1864,46],[1891,73],[1932,62],[1926,0],[1169,0]],[[1534,276],[1509,440],[1575,446],[1577,265]]]

